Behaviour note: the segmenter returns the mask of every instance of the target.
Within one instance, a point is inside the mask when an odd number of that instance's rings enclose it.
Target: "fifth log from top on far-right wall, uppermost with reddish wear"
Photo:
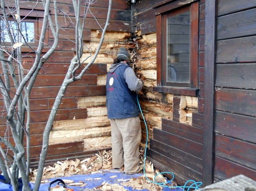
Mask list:
[[[215,92],[217,110],[256,116],[255,90],[218,88]]]

